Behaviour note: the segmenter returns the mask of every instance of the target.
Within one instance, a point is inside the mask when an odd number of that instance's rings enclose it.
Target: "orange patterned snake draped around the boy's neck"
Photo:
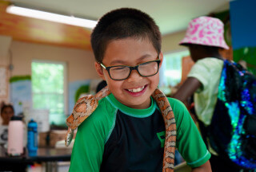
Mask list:
[[[76,128],[95,111],[98,107],[98,101],[108,95],[110,95],[110,90],[108,86],[106,86],[94,96],[88,95],[78,99],[76,104],[74,104],[71,115],[66,119],[66,125],[68,126],[65,137],[66,147],[70,145]],[[176,149],[176,123],[174,112],[165,94],[159,88],[156,88],[151,96],[158,104],[166,128],[162,172],[174,172],[174,156]]]

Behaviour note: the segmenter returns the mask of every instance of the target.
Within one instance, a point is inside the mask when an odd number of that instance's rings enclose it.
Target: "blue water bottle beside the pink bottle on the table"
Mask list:
[[[33,119],[27,126],[27,150],[30,156],[37,155],[38,152],[38,123]]]

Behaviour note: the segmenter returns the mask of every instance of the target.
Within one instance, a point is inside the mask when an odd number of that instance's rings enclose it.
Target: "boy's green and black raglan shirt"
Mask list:
[[[201,166],[210,153],[186,107],[168,98],[177,125],[176,147],[191,167]],[[165,125],[157,104],[126,107],[112,94],[79,127],[70,162],[75,172],[162,171]]]

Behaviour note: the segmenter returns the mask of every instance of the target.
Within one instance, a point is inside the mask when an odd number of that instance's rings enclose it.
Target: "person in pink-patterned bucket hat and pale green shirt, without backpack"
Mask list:
[[[218,18],[202,16],[190,21],[186,36],[180,45],[185,45],[190,50],[190,57],[195,64],[173,97],[186,103],[193,96],[194,110],[202,138],[212,154],[210,158],[212,170],[236,172],[239,169],[234,166],[234,163],[218,156],[206,139],[207,127],[211,123],[217,103],[218,84],[224,63],[219,50],[229,49],[223,33],[224,26]]]

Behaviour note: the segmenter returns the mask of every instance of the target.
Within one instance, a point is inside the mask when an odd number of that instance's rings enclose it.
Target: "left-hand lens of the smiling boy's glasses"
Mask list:
[[[126,66],[116,66],[110,68],[110,77],[114,80],[123,80],[129,76],[130,68]]]

